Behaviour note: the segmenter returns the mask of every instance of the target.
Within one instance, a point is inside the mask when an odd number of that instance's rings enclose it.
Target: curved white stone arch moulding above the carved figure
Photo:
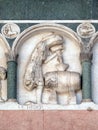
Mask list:
[[[37,24],[37,25],[33,25],[27,29],[25,29],[14,41],[13,46],[12,46],[12,51],[14,54],[17,55],[17,50],[21,45],[21,42],[24,41],[26,38],[29,38],[33,33],[38,33],[43,31],[43,30],[47,30],[49,29],[50,31],[53,29],[54,31],[61,31],[62,33],[64,33],[66,36],[70,37],[71,39],[73,39],[77,45],[81,48],[81,44],[82,41],[80,39],[80,37],[77,35],[76,32],[74,32],[72,29],[64,26],[64,25],[60,25],[60,24]]]

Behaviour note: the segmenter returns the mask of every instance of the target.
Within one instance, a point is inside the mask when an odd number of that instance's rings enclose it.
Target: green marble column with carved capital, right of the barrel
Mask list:
[[[90,52],[81,53],[82,62],[82,97],[83,102],[91,101],[91,59]]]

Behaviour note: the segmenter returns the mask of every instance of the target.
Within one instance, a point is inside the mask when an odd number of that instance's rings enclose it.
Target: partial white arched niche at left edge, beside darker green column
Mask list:
[[[0,34],[0,67],[3,67],[5,70],[7,70],[6,55],[8,55],[9,53],[10,53],[10,46],[6,41],[6,39],[2,36],[2,34]],[[1,97],[3,101],[6,101],[7,100],[7,79],[0,80],[0,87],[1,87],[0,89]]]

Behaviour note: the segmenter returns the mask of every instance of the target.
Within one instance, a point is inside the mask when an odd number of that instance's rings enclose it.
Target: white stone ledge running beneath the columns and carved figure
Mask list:
[[[79,105],[50,105],[33,104],[19,105],[17,102],[0,103],[0,110],[98,110],[98,105],[93,102],[83,102]]]

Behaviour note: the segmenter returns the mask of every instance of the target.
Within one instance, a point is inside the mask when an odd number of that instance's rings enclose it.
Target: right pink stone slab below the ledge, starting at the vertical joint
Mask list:
[[[97,111],[44,111],[45,130],[98,130]]]

